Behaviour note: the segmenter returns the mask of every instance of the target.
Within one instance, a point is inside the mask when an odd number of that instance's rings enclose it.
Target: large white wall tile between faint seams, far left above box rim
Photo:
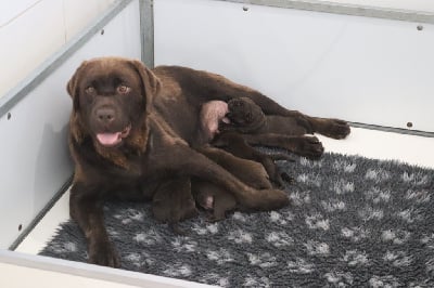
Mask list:
[[[14,1],[3,1],[7,3]],[[0,96],[65,42],[63,3],[43,0],[0,28]]]

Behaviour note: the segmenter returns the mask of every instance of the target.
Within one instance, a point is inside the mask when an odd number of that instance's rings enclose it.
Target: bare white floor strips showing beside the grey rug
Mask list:
[[[411,165],[434,168],[434,138],[414,136],[393,132],[382,132],[352,128],[345,140],[332,140],[318,135],[327,152],[360,155],[376,159],[395,159]],[[25,253],[38,253],[49,240],[60,223],[68,215],[68,192],[65,193],[47,215],[39,222],[26,239],[16,248]]]

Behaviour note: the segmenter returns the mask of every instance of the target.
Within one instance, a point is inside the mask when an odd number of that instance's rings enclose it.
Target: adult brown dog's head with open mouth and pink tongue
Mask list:
[[[141,62],[101,57],[84,62],[67,83],[73,99],[72,136],[91,136],[104,148],[117,147],[139,129],[159,90],[159,81]]]

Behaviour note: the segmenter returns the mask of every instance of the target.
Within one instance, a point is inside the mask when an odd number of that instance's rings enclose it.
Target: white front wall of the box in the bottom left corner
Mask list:
[[[0,287],[207,288],[201,283],[0,249]],[[37,285],[35,285],[37,284]]]

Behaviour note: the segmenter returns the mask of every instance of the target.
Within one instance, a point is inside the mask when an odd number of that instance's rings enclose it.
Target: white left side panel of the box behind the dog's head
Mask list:
[[[102,55],[140,57],[139,1],[133,1],[60,68],[0,118],[0,248],[8,248],[72,175],[66,82]]]

